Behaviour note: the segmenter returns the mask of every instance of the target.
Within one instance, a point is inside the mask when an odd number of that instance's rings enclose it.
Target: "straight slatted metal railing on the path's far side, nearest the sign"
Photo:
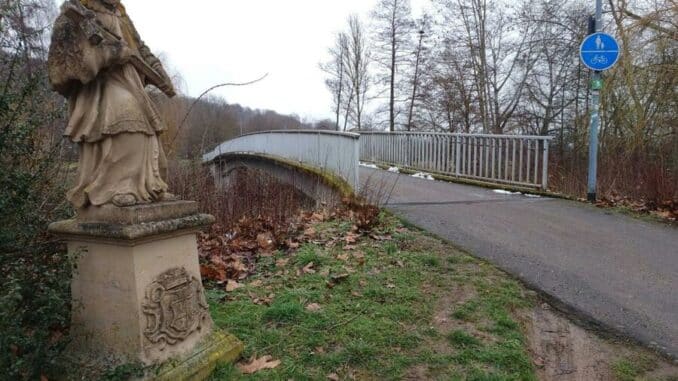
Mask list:
[[[360,160],[546,189],[549,136],[363,132]]]

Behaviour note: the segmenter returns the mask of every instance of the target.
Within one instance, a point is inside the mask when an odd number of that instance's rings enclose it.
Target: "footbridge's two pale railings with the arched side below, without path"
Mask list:
[[[242,135],[203,156],[227,182],[239,167],[265,170],[318,199],[359,187],[359,163],[449,179],[546,190],[548,136],[282,130]]]

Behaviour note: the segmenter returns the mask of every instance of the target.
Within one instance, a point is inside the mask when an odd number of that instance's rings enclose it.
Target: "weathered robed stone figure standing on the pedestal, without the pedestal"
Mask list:
[[[49,79],[69,101],[65,135],[77,143],[77,208],[131,206],[171,198],[163,181],[165,129],[144,88],[174,96],[160,61],[119,0],[68,0],[54,25]]]

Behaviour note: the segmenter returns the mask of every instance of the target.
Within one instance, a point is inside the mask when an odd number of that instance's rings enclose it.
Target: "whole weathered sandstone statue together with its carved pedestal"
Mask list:
[[[80,149],[78,215],[49,226],[78,269],[63,379],[126,363],[149,366],[142,380],[206,379],[243,345],[214,327],[200,278],[196,236],[214,217],[163,180],[165,126],[144,89],[171,97],[172,82],[119,0],[66,0],[48,70]]]

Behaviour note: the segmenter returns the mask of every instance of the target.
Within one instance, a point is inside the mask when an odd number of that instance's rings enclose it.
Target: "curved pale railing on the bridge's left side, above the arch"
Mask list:
[[[203,162],[234,153],[275,156],[329,171],[357,190],[359,137],[347,132],[319,130],[257,132],[221,143],[203,155]]]

